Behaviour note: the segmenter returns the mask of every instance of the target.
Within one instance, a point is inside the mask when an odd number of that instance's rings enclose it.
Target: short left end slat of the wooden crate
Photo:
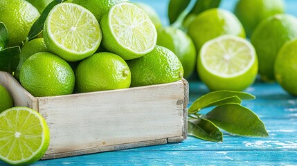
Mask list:
[[[37,99],[28,93],[28,91],[26,91],[26,89],[24,89],[24,87],[21,86],[14,77],[12,77],[12,75],[0,71],[0,84],[8,89],[12,95],[15,106],[30,107],[35,111],[38,111]]]

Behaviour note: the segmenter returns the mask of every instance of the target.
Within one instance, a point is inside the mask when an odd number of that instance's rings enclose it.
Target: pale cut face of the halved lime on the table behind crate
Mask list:
[[[255,64],[255,48],[241,37],[223,35],[201,48],[201,62],[206,70],[219,77],[237,77]]]

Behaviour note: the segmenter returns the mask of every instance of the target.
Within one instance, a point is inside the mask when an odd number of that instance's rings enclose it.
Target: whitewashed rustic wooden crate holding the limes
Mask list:
[[[51,142],[43,159],[181,142],[187,137],[188,82],[35,98],[9,73],[0,84],[15,106],[45,118]]]

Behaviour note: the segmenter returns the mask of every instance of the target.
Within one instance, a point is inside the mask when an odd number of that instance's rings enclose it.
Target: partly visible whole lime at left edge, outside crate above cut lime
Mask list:
[[[0,84],[0,113],[13,107],[13,100],[8,90]]]

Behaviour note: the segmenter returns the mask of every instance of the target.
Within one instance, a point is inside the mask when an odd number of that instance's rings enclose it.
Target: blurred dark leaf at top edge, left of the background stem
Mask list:
[[[168,4],[168,19],[173,24],[179,18],[179,15],[186,10],[191,0],[170,0]]]

